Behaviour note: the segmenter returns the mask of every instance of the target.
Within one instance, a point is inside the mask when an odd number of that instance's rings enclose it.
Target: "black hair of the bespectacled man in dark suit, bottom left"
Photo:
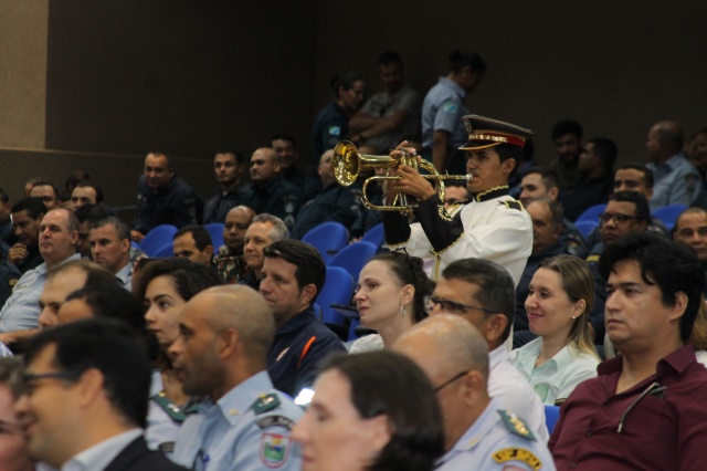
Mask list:
[[[92,318],[45,328],[32,337],[25,350],[31,364],[54,345],[53,365],[78,379],[87,369],[104,377],[104,389],[115,409],[129,423],[145,428],[151,368],[145,345],[125,323]]]

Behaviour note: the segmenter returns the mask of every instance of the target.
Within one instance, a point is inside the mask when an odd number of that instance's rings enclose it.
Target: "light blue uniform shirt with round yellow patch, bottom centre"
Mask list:
[[[523,420],[498,409],[492,399],[462,438],[436,462],[436,471],[542,470],[555,471],[547,444],[537,437],[524,437]],[[504,414],[511,422],[504,420]],[[520,430],[517,432],[516,430]]]

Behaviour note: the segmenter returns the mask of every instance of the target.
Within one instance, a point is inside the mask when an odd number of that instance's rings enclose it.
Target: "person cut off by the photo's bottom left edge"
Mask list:
[[[0,358],[0,469],[3,471],[34,471],[27,438],[14,411],[14,404],[21,395],[22,360]]]

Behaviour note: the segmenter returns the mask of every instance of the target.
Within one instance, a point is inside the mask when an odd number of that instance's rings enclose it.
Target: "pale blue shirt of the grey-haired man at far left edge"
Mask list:
[[[81,254],[74,253],[62,263],[80,260]],[[39,327],[40,296],[46,283],[46,263],[28,271],[18,280],[12,294],[0,311],[0,332],[28,331]]]

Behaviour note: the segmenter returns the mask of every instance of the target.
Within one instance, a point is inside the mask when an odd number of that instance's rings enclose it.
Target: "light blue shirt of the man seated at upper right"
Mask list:
[[[699,172],[683,153],[674,155],[661,165],[647,164],[646,168],[653,170],[655,179],[653,197],[648,201],[651,211],[667,205],[689,206],[703,190]]]

